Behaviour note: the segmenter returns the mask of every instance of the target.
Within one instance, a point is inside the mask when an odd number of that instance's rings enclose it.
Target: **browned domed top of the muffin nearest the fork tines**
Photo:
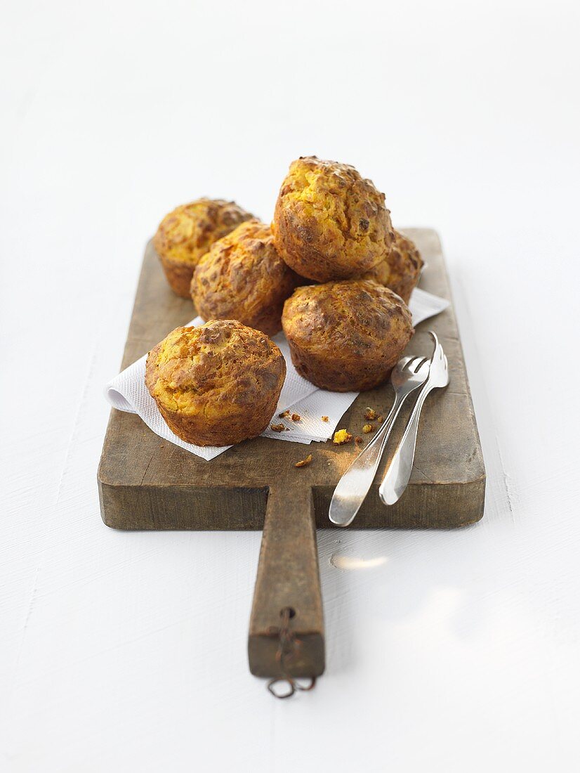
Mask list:
[[[411,338],[411,312],[392,290],[351,279],[297,288],[284,304],[283,329],[291,343],[331,356],[365,357]]]

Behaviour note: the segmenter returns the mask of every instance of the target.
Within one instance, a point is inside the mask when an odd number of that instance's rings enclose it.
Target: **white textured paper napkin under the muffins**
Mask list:
[[[443,312],[447,306],[449,306],[449,301],[444,298],[438,298],[436,295],[415,288],[409,303],[413,325],[419,325],[419,322]],[[203,320],[201,317],[197,317],[188,324],[202,325]],[[168,332],[170,331],[168,330]],[[274,421],[271,423],[284,424],[288,430],[274,432],[268,427],[263,434],[266,438],[299,443],[327,440],[333,434],[341,416],[351,405],[358,392],[327,392],[318,389],[310,381],[298,375],[290,359],[290,347],[283,333],[275,335],[273,341],[280,347],[286,360],[287,375],[280,393],[280,400],[278,400],[276,414],[274,414]],[[118,410],[139,414],[149,429],[158,434],[160,438],[171,441],[171,443],[175,443],[175,445],[185,448],[186,451],[191,451],[192,454],[203,459],[212,459],[231,448],[228,445],[219,447],[193,445],[182,441],[171,432],[145,386],[146,359],[147,355],[137,359],[136,363],[124,369],[122,373],[107,383],[105,397],[110,404]],[[289,418],[280,419],[278,417],[277,414],[290,408],[292,409],[291,413],[300,415],[300,421],[295,422]],[[322,421],[323,416],[327,416],[328,421]]]

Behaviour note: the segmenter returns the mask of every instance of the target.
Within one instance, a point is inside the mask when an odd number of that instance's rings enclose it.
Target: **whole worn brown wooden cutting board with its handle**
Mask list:
[[[405,233],[427,267],[420,287],[451,299],[439,237],[431,229]],[[122,368],[148,352],[172,329],[195,317],[192,302],[168,288],[151,243],[141,278]],[[483,515],[485,468],[453,306],[417,326],[407,353],[429,355],[428,331],[439,337],[449,360],[446,390],[427,398],[419,425],[409,487],[395,506],[378,497],[377,479],[351,528],[437,528],[474,523]],[[361,393],[337,428],[361,435],[369,406],[385,416],[390,385]],[[395,426],[392,453],[414,400]],[[294,462],[312,453],[304,468]],[[314,676],[324,670],[324,627],[318,580],[317,528],[335,528],[327,518],[331,495],[358,449],[354,444],[310,446],[254,438],[205,461],[164,441],[135,414],[112,410],[98,472],[104,523],[116,529],[264,530],[250,623],[250,669],[259,676]],[[292,608],[293,635],[300,642],[281,669],[277,633],[280,611]],[[276,656],[277,653],[277,656]]]

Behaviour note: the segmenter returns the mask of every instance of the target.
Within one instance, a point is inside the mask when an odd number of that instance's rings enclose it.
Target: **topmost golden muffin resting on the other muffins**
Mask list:
[[[319,282],[371,271],[393,239],[385,194],[353,166],[315,155],[290,164],[272,228],[283,260]]]

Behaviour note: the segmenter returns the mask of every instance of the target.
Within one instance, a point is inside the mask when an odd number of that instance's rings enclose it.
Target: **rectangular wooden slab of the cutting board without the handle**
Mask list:
[[[428,264],[421,279],[427,291],[450,298],[436,232],[409,229]],[[195,315],[191,302],[168,288],[151,243],[144,257],[122,367],[151,349],[167,333]],[[474,523],[483,514],[485,469],[473,414],[463,352],[453,308],[418,325],[410,353],[431,350],[434,329],[449,359],[446,390],[429,396],[422,411],[415,465],[409,487],[395,506],[385,508],[375,482],[354,526],[376,528],[451,528]],[[386,414],[390,385],[362,393],[339,427],[361,434],[366,406]],[[402,434],[412,401],[402,412],[389,447]],[[365,436],[366,437],[366,436]],[[245,441],[205,461],[158,438],[134,414],[112,410],[98,473],[104,523],[117,529],[262,529],[270,487],[312,492],[318,528],[331,526],[328,504],[338,478],[358,452],[354,444],[313,443],[309,467],[295,468],[304,445],[270,438]],[[379,468],[377,481],[388,461]]]

